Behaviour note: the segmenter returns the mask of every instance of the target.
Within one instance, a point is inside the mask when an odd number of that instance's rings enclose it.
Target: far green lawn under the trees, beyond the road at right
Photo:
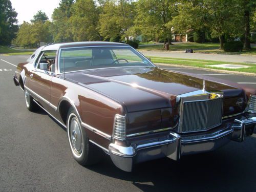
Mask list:
[[[215,53],[215,54],[249,54],[256,55],[256,48],[252,48],[249,51],[243,50],[242,52],[225,52],[223,50],[219,50],[219,43],[207,42],[205,44],[198,44],[196,42],[181,42],[178,45],[170,45],[170,51],[185,51],[185,49],[193,49],[195,53]],[[164,51],[163,45],[154,45],[147,43],[140,46],[138,50],[146,50],[146,51]]]

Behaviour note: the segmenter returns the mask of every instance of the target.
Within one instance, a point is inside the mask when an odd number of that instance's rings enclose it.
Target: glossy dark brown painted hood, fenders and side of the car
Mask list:
[[[60,48],[77,46],[125,45],[95,42],[67,44]],[[243,112],[248,96],[256,93],[255,89],[226,80],[156,67],[102,68],[70,72],[64,76],[42,73],[35,70],[32,63],[26,62],[18,65],[16,78],[20,79],[22,73],[25,73],[25,86],[36,93],[31,93],[32,96],[57,120],[66,124],[60,108],[69,102],[83,123],[109,136],[113,133],[116,114],[127,115],[127,134],[175,127],[179,121],[176,97],[181,94],[202,89],[223,92],[223,116],[228,116]],[[238,101],[242,102],[240,106]],[[110,140],[86,130],[91,140],[108,148]]]

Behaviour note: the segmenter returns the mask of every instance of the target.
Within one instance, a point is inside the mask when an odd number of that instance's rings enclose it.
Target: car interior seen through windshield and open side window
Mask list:
[[[43,51],[36,61],[36,68],[55,73],[56,50]],[[123,65],[151,65],[129,49],[90,48],[65,49],[60,53],[60,72],[79,71]]]

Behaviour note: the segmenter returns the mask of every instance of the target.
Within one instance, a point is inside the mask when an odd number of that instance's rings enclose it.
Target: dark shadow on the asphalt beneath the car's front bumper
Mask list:
[[[215,152],[184,156],[179,162],[163,158],[140,163],[132,173],[115,167],[108,155],[88,168],[130,181],[142,191],[255,191],[255,148],[254,135],[244,143],[230,142]]]

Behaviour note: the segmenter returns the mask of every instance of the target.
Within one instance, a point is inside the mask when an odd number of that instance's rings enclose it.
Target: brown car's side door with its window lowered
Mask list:
[[[55,65],[55,57],[56,50],[42,51],[29,75],[29,91],[45,109],[49,109],[49,105],[51,105],[51,82],[55,71],[51,71],[50,66]],[[49,61],[52,62],[50,65],[47,64]],[[41,66],[48,67],[41,68]]]

